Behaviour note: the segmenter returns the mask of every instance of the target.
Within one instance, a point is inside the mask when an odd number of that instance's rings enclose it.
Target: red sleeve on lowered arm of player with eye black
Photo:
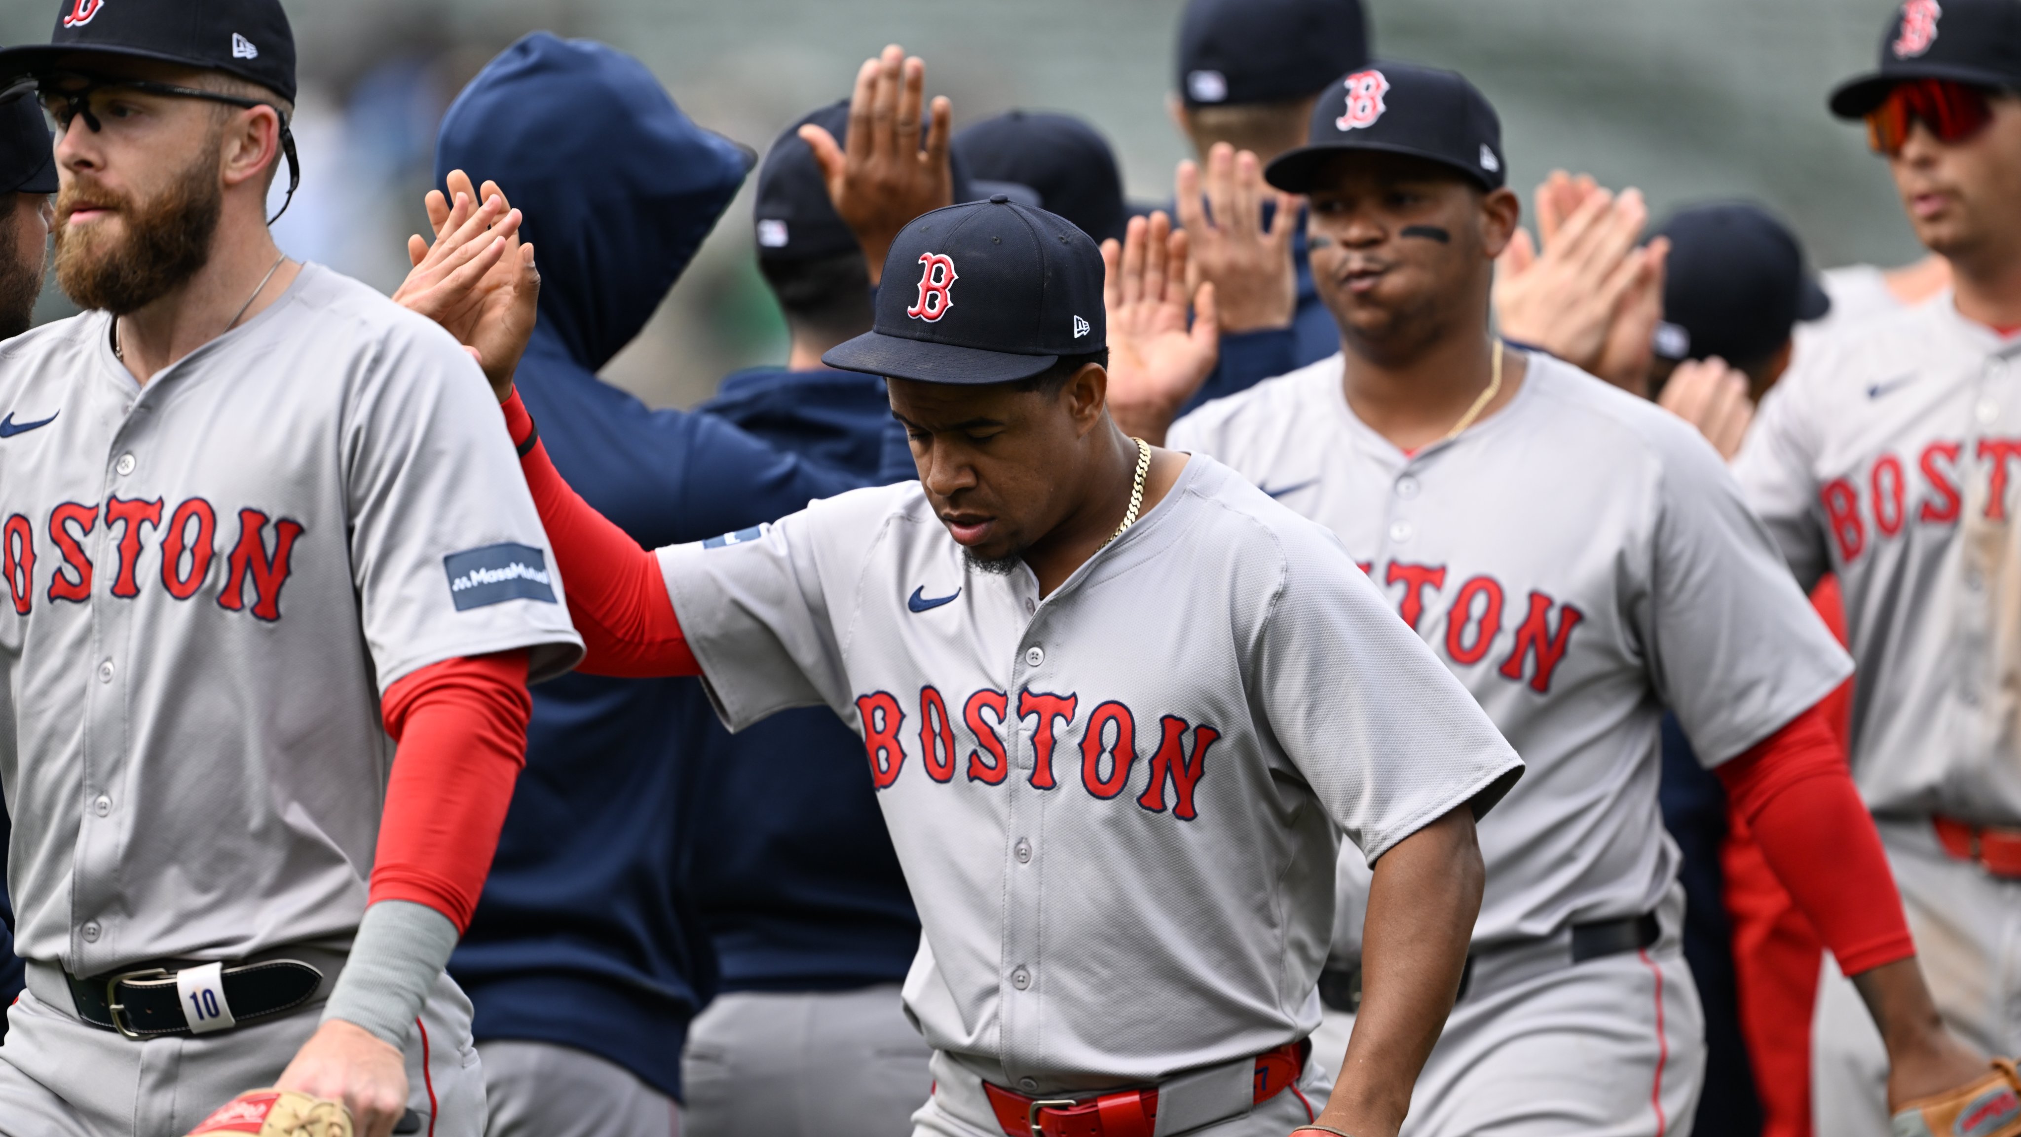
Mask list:
[[[1718,767],[1718,775],[1839,971],[1859,975],[1916,955],[1916,941],[1873,817],[1821,706]]]

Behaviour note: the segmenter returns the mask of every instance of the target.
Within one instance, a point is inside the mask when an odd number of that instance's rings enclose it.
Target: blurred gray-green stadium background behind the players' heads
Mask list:
[[[65,4],[69,0],[63,0]],[[1748,196],[1813,263],[1904,263],[1886,168],[1825,113],[1871,65],[1888,0],[1364,0],[1378,55],[1465,71],[1502,111],[1512,186],[1550,168],[1641,186],[1657,216]],[[764,152],[849,93],[885,42],[928,61],[956,125],[1010,107],[1091,119],[1132,198],[1164,200],[1184,152],[1166,117],[1180,0],[291,0],[301,53],[303,188],[281,245],[390,291],[422,225],[435,127],[463,83],[527,30],[639,55],[703,125]],[[57,0],[0,0],[0,42],[46,42]],[[582,107],[582,115],[602,113]],[[509,186],[507,186],[509,190]],[[42,318],[69,310],[55,287]],[[687,407],[786,354],[758,277],[750,186],[651,328],[606,376]]]

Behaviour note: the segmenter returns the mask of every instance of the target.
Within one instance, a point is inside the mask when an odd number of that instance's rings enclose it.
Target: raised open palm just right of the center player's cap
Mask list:
[[[1110,324],[1110,415],[1152,443],[1221,356],[1215,283],[1186,283],[1188,235],[1164,212],[1130,218],[1124,241],[1101,243],[1101,299]],[[1188,299],[1192,326],[1186,326]]]

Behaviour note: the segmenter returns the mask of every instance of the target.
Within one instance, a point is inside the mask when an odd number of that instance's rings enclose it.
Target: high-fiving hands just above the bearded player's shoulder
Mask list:
[[[449,330],[503,401],[538,320],[540,269],[534,247],[519,241],[521,214],[497,182],[479,192],[469,174],[453,170],[447,188],[449,196],[428,190],[435,243],[406,239],[414,267],[392,297]]]

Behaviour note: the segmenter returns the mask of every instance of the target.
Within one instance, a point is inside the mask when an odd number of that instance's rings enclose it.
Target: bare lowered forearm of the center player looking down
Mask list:
[[[1487,872],[1465,805],[1382,854],[1362,931],[1362,1005],[1322,1125],[1388,1137],[1411,1109],[1467,965]]]

